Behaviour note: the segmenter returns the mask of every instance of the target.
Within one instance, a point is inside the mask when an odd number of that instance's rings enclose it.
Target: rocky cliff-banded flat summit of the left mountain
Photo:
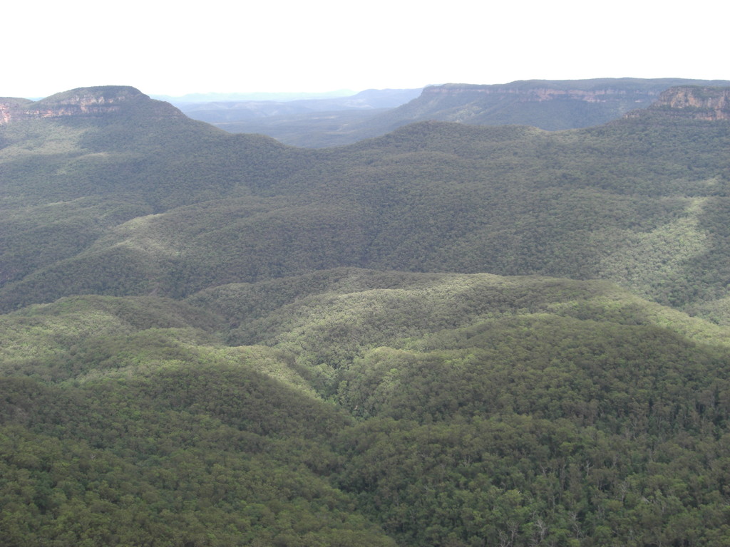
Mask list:
[[[158,101],[152,101],[139,90],[126,86],[78,88],[36,102],[20,98],[0,98],[0,124],[64,116],[114,115],[128,105],[144,102]],[[174,106],[163,104],[169,106],[166,114],[182,115]]]

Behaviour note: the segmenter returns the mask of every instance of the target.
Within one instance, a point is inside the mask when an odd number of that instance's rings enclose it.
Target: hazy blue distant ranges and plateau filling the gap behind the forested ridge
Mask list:
[[[727,80],[602,78],[446,84],[420,90],[369,90],[334,100],[183,104],[196,120],[233,133],[262,133],[285,144],[326,147],[383,135],[417,121],[531,125],[548,131],[600,125],[642,109],[677,85]]]

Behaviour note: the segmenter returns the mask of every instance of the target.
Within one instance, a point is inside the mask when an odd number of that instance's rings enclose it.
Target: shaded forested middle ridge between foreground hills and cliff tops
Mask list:
[[[610,279],[727,319],[725,120],[432,122],[301,150],[115,105],[2,127],[4,309],[357,266]]]

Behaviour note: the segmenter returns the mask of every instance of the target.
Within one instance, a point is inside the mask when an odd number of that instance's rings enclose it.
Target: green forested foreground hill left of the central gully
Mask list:
[[[169,300],[4,319],[4,545],[393,545],[323,477],[350,419],[274,352],[219,346]]]

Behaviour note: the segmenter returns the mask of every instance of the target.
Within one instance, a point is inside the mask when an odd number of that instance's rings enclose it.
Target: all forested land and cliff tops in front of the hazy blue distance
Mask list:
[[[726,546],[727,97],[322,150],[0,99],[0,543]]]

